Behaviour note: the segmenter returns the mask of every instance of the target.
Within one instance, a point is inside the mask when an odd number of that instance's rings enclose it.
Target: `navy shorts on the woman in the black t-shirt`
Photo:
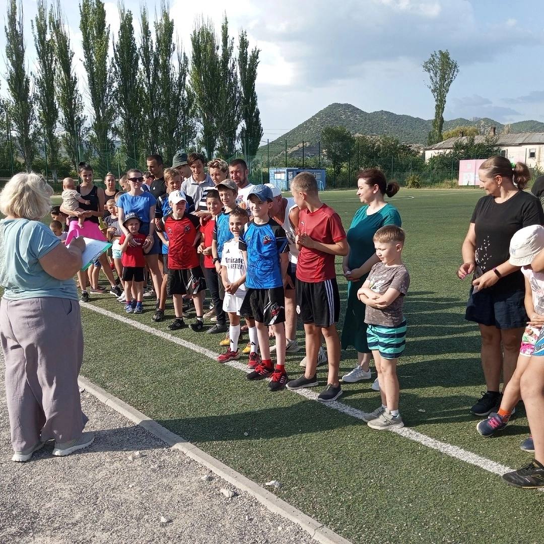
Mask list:
[[[465,319],[497,329],[521,329],[528,322],[525,311],[525,290],[507,293],[488,287],[468,297]]]

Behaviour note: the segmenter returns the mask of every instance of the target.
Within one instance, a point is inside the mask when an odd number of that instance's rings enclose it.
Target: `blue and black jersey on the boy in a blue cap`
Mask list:
[[[289,243],[285,231],[274,219],[264,225],[256,225],[254,221],[246,224],[240,234],[240,249],[248,252],[246,287],[283,287],[280,255],[289,251]]]

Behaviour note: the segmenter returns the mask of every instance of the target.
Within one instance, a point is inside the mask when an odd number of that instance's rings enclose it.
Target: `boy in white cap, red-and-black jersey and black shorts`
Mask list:
[[[203,319],[203,291],[206,289],[206,281],[200,268],[200,258],[196,252],[200,244],[200,220],[196,215],[185,212],[187,205],[183,191],[172,191],[168,195],[168,202],[172,212],[164,218],[164,232],[168,236],[168,280],[166,280],[166,293],[174,299],[176,319],[168,328],[171,331],[182,329],[183,321],[183,295],[193,298],[196,310],[196,323],[190,327],[195,332],[204,328]]]

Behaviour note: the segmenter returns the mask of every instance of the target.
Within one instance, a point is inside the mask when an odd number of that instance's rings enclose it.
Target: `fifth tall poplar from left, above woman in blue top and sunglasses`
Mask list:
[[[141,92],[139,54],[134,37],[132,13],[119,3],[119,33],[113,41],[114,102],[119,115],[116,132],[126,153],[126,168],[134,168],[139,159],[141,132]]]

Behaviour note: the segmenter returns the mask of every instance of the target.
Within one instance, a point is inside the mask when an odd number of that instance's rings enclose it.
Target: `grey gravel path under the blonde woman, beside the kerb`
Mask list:
[[[1,363],[0,373],[3,377]],[[90,448],[54,458],[53,442],[48,442],[31,461],[11,462],[1,381],[2,544],[316,542],[87,392],[82,393],[86,430],[98,431]],[[207,475],[211,480],[202,480]],[[221,488],[239,494],[227,498]]]

